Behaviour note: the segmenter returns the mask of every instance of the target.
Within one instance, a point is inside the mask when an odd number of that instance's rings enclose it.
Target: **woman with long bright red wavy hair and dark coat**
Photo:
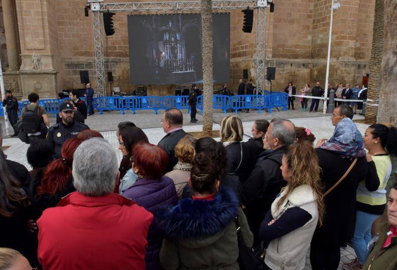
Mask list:
[[[32,187],[32,210],[35,219],[47,208],[55,207],[62,197],[75,191],[71,169],[74,151],[81,142],[77,138],[67,140],[62,146],[62,158],[48,164],[44,174],[36,175],[38,180],[32,181],[36,183]]]

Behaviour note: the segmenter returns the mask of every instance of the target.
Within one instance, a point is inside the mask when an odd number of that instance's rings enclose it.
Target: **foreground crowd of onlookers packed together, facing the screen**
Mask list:
[[[48,138],[31,141],[31,171],[0,152],[0,269],[302,270],[310,247],[313,270],[336,270],[351,243],[344,269],[395,270],[397,129],[362,135],[353,115],[336,107],[315,146],[281,118],[255,121],[243,142],[234,115],[219,141],[197,139],[170,108],[157,146],[119,123],[118,163],[65,103]]]

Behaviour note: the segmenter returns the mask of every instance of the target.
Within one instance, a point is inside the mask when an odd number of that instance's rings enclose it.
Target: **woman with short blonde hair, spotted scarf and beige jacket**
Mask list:
[[[182,192],[188,183],[190,171],[192,170],[195,155],[196,139],[192,135],[186,135],[179,140],[175,146],[175,157],[178,163],[174,169],[167,172],[164,176],[170,177],[175,184],[178,199],[182,198]]]

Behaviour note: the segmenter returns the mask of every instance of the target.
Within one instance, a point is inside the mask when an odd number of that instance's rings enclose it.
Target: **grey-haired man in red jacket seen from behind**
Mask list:
[[[72,167],[76,192],[45,210],[37,221],[43,269],[145,268],[153,215],[113,193],[120,175],[117,163],[114,149],[102,138],[77,148]]]

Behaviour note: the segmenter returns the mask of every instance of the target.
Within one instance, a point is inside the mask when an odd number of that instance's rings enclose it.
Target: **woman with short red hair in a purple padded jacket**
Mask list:
[[[144,143],[134,146],[132,153],[132,168],[138,179],[123,196],[132,199],[151,213],[156,213],[162,206],[175,206],[178,196],[174,182],[171,178],[163,176],[168,163],[168,155],[164,150]],[[147,234],[146,270],[163,269],[159,258],[163,238],[163,232],[152,224]]]

